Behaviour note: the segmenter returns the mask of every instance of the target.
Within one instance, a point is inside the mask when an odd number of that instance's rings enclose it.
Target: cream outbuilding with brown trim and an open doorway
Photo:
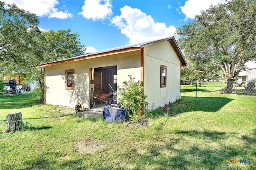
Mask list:
[[[180,98],[180,68],[186,61],[174,37],[126,45],[69,59],[40,64],[44,67],[45,103],[90,108],[94,91],[117,92],[131,75],[144,81],[148,109]],[[110,93],[111,94],[111,93]],[[118,99],[117,99],[118,100]]]

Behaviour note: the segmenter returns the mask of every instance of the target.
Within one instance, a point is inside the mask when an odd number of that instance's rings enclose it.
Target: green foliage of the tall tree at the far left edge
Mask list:
[[[32,66],[40,55],[34,46],[40,36],[38,23],[35,14],[0,2],[0,61],[7,72]]]

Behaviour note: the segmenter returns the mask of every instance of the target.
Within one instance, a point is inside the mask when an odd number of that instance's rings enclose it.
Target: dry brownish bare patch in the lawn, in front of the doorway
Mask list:
[[[75,142],[74,146],[79,153],[93,153],[94,151],[103,148],[100,141],[91,138]]]

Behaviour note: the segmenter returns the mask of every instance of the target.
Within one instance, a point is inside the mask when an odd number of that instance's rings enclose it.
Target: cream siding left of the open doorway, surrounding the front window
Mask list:
[[[46,104],[74,107],[77,102],[88,106],[88,71],[84,62],[48,66],[46,72]],[[74,90],[66,90],[65,70],[74,69]]]

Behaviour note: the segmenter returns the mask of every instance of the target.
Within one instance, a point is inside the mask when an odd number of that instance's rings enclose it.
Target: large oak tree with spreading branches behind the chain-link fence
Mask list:
[[[256,2],[230,0],[211,6],[177,34],[186,58],[197,63],[195,71],[235,81],[244,64],[256,59]],[[231,87],[228,83],[227,93]]]

